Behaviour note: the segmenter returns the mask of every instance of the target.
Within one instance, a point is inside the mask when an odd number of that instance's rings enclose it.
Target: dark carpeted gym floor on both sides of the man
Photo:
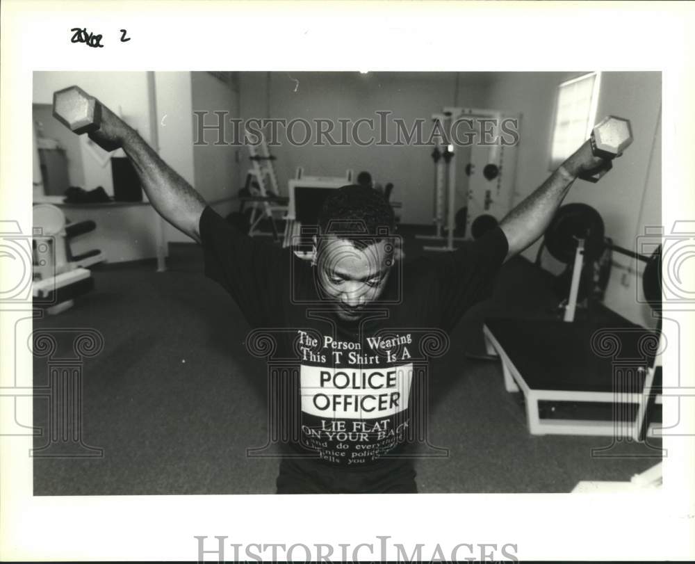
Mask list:
[[[401,229],[410,257],[421,252],[416,231]],[[170,245],[167,266],[95,269],[94,291],[35,321],[35,329],[93,328],[104,337],[104,350],[83,364],[82,414],[83,442],[104,455],[34,458],[35,495],[275,492],[277,459],[246,456],[268,428],[266,368],[243,344],[250,328],[202,275],[197,245]],[[523,398],[505,392],[500,365],[466,357],[484,353],[484,316],[552,316],[555,303],[548,275],[516,258],[493,298],[459,323],[432,366],[430,441],[450,455],[416,462],[420,492],[569,492],[580,480],[629,480],[659,461],[644,457],[656,452],[644,444],[621,442],[612,453],[625,457],[595,458],[591,449],[610,438],[530,435]],[[56,336],[56,356],[72,355],[69,335]],[[47,384],[47,372],[47,360],[35,359],[35,386]],[[35,398],[35,426],[48,417],[47,402]],[[36,437],[36,448],[45,443]]]

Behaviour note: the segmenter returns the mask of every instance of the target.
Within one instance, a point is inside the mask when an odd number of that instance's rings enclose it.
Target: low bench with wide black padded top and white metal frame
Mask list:
[[[532,435],[636,438],[648,406],[661,403],[650,346],[658,336],[628,321],[486,319],[483,332],[487,352],[502,361],[507,392],[524,394]]]

